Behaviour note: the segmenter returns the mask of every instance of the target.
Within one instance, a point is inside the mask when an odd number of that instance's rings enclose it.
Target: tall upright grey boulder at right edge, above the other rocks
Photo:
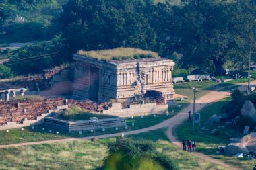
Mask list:
[[[254,108],[253,103],[251,101],[245,101],[243,104],[243,108],[241,110],[241,115],[245,117],[251,118],[254,124],[256,124],[256,110]]]

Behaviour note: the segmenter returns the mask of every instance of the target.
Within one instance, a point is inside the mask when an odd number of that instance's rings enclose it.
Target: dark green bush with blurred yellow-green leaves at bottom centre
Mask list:
[[[166,155],[156,151],[152,142],[135,142],[126,138],[117,138],[117,142],[109,144],[110,155],[104,159],[104,170],[174,170],[173,161]]]

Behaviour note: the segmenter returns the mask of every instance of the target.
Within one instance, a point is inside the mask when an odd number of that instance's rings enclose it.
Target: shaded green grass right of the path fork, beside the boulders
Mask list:
[[[217,114],[218,116],[222,114],[220,110],[222,105],[226,102],[228,102],[228,98],[212,103],[200,111],[201,127],[205,127],[207,130],[199,130],[199,127],[195,126],[195,131],[193,132],[191,123],[183,122],[183,124],[174,129],[174,133],[178,136],[180,141],[184,138],[189,140],[195,139],[197,141],[197,151],[201,153],[205,153],[216,159],[221,159],[241,169],[250,170],[256,164],[256,160],[244,160],[236,159],[236,157],[215,155],[218,146],[226,146],[230,143],[230,138],[240,138],[243,136],[242,130],[244,126],[242,124],[225,125],[224,122],[220,122],[218,124],[205,126],[205,122],[212,114]],[[225,127],[220,128],[219,126]],[[214,129],[216,129],[216,131],[212,133]]]

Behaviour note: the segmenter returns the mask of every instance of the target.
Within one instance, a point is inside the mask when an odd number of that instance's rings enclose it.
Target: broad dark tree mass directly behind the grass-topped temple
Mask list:
[[[135,0],[69,1],[60,19],[65,49],[69,54],[119,46],[152,49],[156,34],[143,13],[150,4]]]

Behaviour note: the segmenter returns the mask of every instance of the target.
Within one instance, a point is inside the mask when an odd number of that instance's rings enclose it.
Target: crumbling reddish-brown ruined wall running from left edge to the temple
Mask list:
[[[8,122],[22,124],[24,120],[36,120],[42,114],[49,113],[49,110],[56,110],[67,105],[69,108],[77,106],[88,112],[102,112],[108,108],[110,103],[102,103],[98,105],[90,100],[75,101],[69,99],[65,103],[65,99],[26,99],[23,101],[0,102],[0,126]]]

